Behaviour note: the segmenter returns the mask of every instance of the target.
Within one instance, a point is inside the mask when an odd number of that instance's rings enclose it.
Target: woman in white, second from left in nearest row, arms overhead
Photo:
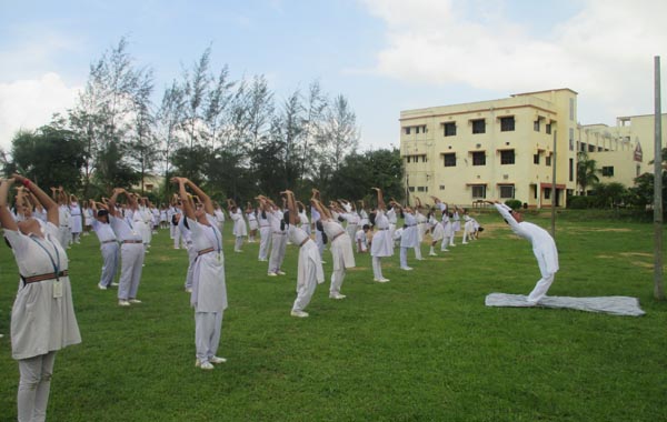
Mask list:
[[[183,199],[183,213],[192,234],[192,245],[197,250],[190,298],[190,304],[195,308],[195,366],[212,370],[213,363],[227,361],[216,355],[222,330],[222,314],[227,309],[222,233],[216,223],[211,199],[188,179],[173,178],[171,181],[178,183]],[[186,185],[199,197],[203,207],[193,209],[190,201],[186,200]]]

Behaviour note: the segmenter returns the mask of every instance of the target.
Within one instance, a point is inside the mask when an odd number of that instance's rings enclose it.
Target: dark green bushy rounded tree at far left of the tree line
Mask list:
[[[13,162],[9,170],[18,171],[47,189],[62,185],[68,191],[78,191],[84,154],[83,143],[74,132],[44,125],[14,137]]]

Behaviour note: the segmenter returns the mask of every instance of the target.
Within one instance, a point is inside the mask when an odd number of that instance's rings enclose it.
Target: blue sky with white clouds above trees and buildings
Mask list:
[[[579,122],[615,125],[654,112],[666,16],[664,0],[0,0],[0,148],[72,108],[122,37],[156,104],[210,46],[213,73],[263,74],[278,103],[313,81],[346,97],[361,150],[398,147],[401,110],[558,88]]]

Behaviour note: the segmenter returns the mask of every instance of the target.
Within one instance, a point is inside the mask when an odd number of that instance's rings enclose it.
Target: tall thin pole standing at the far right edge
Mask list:
[[[654,297],[665,300],[663,287],[663,111],[660,104],[660,57],[655,63],[655,142],[654,142]]]

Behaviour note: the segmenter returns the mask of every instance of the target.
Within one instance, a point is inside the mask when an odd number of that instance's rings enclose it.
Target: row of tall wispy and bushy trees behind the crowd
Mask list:
[[[211,69],[211,48],[152,102],[155,74],[139,68],[122,38],[90,66],[74,107],[36,131],[21,131],[2,152],[6,173],[42,185],[63,185],[83,198],[113,187],[145,192],[159,177],[153,200],[171,192],[172,174],[203,185],[216,199],[278,197],[312,187],[331,198],[370,197],[382,187],[401,199],[397,149],[359,152],[356,114],[318,81],[277,100],[265,76],[232,80],[226,64]]]

